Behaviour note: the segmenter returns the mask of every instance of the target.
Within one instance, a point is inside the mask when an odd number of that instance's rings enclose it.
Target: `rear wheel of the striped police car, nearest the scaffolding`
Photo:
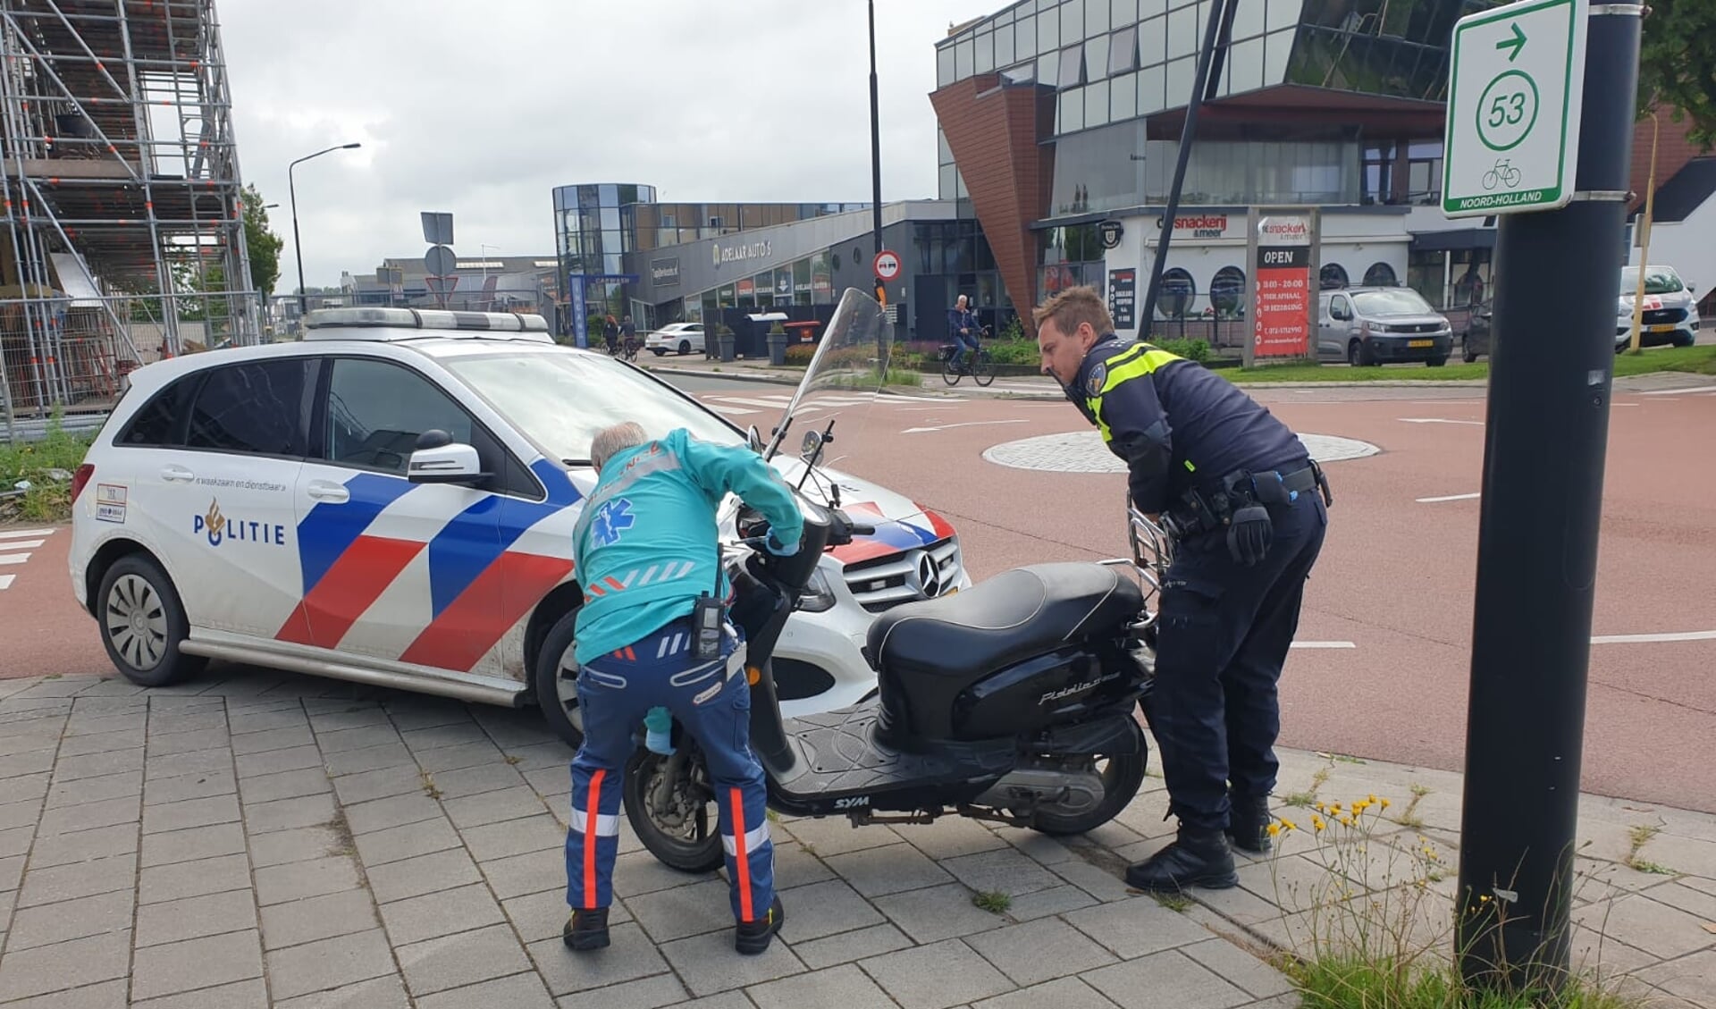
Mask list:
[[[115,561],[101,577],[96,606],[108,659],[137,686],[166,686],[208,666],[206,657],[178,650],[190,637],[190,621],[173,580],[153,558],[127,554]]]

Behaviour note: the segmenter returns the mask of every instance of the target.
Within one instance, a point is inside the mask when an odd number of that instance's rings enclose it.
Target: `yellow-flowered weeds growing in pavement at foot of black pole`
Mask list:
[[[1423,798],[1428,789],[1414,796]],[[1508,964],[1491,968],[1483,987],[1460,975],[1453,946],[1457,897],[1435,884],[1447,879],[1441,851],[1424,834],[1395,831],[1383,813],[1388,798],[1316,801],[1301,820],[1278,817],[1272,877],[1275,903],[1287,915],[1275,964],[1309,1009],[1632,1009],[1640,1002],[1604,982],[1574,971],[1558,994],[1515,987]],[[1301,844],[1302,841],[1302,844]],[[1292,851],[1289,851],[1292,848]],[[1284,880],[1282,861],[1301,860],[1309,873]],[[1496,891],[1503,892],[1503,891]],[[1505,896],[1505,894],[1503,894]],[[1465,940],[1493,935],[1508,906],[1491,894],[1459,901],[1472,915]],[[1471,949],[1477,949],[1472,946]]]

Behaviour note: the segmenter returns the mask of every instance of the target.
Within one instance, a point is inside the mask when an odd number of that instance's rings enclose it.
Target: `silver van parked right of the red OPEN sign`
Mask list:
[[[1354,367],[1417,360],[1441,367],[1453,353],[1453,328],[1409,287],[1325,290],[1318,292],[1316,353]]]

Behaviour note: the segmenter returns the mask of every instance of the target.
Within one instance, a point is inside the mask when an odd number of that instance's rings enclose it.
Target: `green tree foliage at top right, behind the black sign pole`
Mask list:
[[[1716,3],[1651,0],[1639,50],[1639,118],[1692,120],[1687,139],[1716,146]]]

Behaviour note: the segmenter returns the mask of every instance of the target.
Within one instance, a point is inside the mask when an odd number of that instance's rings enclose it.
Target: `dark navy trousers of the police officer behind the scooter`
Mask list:
[[[1273,542],[1251,568],[1229,554],[1225,527],[1181,541],[1162,594],[1145,714],[1169,810],[1196,831],[1227,827],[1229,782],[1234,796],[1266,796],[1280,767],[1277,681],[1328,511],[1309,491],[1272,504],[1270,520]]]

